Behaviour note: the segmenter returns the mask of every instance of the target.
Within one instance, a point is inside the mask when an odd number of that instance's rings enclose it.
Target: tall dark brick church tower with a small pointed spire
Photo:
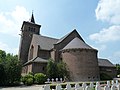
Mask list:
[[[19,60],[22,64],[28,61],[28,52],[33,34],[39,35],[41,25],[35,24],[34,15],[29,21],[24,21],[21,27],[21,40],[19,47]]]

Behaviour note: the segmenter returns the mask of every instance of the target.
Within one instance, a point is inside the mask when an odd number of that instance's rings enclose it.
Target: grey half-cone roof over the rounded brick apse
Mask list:
[[[89,45],[87,45],[85,42],[83,42],[78,37],[74,38],[70,43],[68,43],[63,50],[65,49],[78,49],[78,48],[84,48],[84,49],[93,49]]]

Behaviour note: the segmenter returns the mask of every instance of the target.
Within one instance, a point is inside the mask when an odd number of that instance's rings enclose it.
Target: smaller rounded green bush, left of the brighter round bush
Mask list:
[[[31,74],[27,74],[25,76],[22,76],[21,81],[25,84],[25,85],[32,85],[34,83],[34,76]]]

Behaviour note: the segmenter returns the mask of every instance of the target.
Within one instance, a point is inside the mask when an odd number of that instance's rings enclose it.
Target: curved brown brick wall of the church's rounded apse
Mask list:
[[[96,50],[73,49],[62,52],[63,62],[68,66],[72,81],[99,80]]]

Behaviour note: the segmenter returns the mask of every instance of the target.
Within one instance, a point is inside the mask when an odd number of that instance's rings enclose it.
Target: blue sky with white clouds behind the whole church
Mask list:
[[[18,53],[22,22],[32,10],[42,35],[61,38],[77,29],[98,57],[120,63],[120,0],[1,0],[0,49]]]

